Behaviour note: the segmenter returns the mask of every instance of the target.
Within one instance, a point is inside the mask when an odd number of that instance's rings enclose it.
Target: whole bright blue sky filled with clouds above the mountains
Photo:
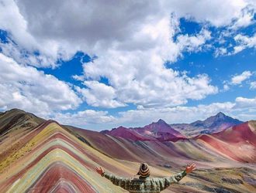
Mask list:
[[[64,2],[1,5],[0,110],[92,130],[256,119],[254,1]]]

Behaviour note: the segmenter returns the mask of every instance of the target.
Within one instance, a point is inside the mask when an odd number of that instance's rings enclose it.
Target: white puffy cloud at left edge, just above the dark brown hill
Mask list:
[[[67,83],[0,53],[0,107],[21,108],[40,116],[78,107],[81,99]]]

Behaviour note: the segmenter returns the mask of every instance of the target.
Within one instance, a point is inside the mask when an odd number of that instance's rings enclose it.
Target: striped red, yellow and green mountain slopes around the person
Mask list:
[[[255,192],[256,121],[178,141],[140,141],[63,126],[22,110],[0,114],[0,192],[126,192],[95,172],[133,178],[198,169],[163,192]]]

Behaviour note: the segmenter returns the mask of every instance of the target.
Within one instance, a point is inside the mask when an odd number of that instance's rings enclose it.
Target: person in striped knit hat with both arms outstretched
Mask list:
[[[158,193],[168,188],[169,185],[178,183],[186,174],[195,170],[195,164],[188,165],[184,171],[175,174],[174,176],[164,178],[149,178],[150,169],[146,163],[140,164],[138,171],[139,178],[121,178],[113,174],[106,173],[102,167],[95,168],[96,171],[112,181],[114,185],[118,185],[131,193]]]

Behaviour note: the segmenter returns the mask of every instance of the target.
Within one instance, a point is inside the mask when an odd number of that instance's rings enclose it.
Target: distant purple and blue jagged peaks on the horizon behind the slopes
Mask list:
[[[199,134],[214,134],[226,130],[243,121],[217,113],[206,120],[197,120],[192,124],[167,124],[164,120],[144,127],[117,127],[112,130],[102,130],[102,134],[123,137],[133,141],[178,141]]]

